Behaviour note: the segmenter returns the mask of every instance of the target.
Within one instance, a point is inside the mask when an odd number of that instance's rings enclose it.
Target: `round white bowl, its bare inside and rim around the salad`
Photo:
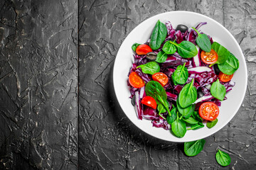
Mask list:
[[[198,130],[188,130],[184,137],[178,138],[172,135],[169,130],[152,127],[151,120],[139,120],[137,118],[137,115],[134,111],[134,106],[132,106],[131,99],[129,98],[130,92],[127,86],[127,74],[129,73],[129,69],[132,67],[134,54],[131,47],[134,42],[146,42],[146,40],[150,38],[151,32],[156,24],[156,21],[158,20],[160,20],[162,23],[171,21],[171,24],[174,28],[176,28],[178,24],[184,24],[188,26],[188,28],[191,28],[192,26],[196,27],[198,23],[207,22],[205,26],[200,28],[203,33],[210,35],[214,41],[219,42],[221,45],[230,50],[230,52],[232,52],[240,62],[240,67],[235,72],[233,77],[235,86],[233,90],[229,91],[226,95],[228,100],[221,103],[218,123],[211,129],[205,126],[204,128]],[[171,11],[160,13],[159,15],[153,16],[146,21],[143,21],[139,24],[139,26],[134,28],[131,33],[129,33],[124,42],[122,42],[119,51],[117,52],[117,57],[114,62],[113,81],[114,91],[117,96],[117,100],[119,101],[119,105],[129,120],[134,123],[134,125],[137,125],[138,128],[148,133],[149,135],[157,137],[161,140],[167,140],[171,142],[188,142],[199,140],[212,135],[227,125],[235,113],[238,112],[243,98],[245,97],[247,86],[247,67],[245,64],[245,57],[242,54],[242,50],[240,49],[238,42],[226,28],[220,25],[220,23],[199,13],[188,11]]]

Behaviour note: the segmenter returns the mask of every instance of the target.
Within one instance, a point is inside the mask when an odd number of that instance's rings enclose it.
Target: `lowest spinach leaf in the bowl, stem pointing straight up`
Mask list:
[[[178,118],[178,112],[176,120],[171,123],[171,130],[176,137],[183,137],[186,134],[186,123]]]

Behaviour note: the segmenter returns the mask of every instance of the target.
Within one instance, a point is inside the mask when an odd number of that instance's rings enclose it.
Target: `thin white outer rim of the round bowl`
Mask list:
[[[243,52],[242,52],[242,49],[241,49],[240,45],[238,44],[237,40],[235,40],[234,36],[228,31],[227,28],[225,28],[223,25],[221,25],[220,23],[218,23],[218,21],[215,21],[213,18],[210,18],[210,17],[208,17],[208,16],[205,16],[205,15],[203,15],[203,14],[201,14],[201,13],[196,13],[196,12],[191,12],[191,11],[167,11],[167,12],[159,13],[159,14],[157,14],[157,15],[155,15],[155,16],[151,16],[151,17],[149,17],[149,18],[146,18],[144,21],[140,22],[136,27],[134,27],[134,28],[132,29],[132,31],[131,31],[130,33],[128,33],[128,34],[125,36],[125,38],[124,38],[124,40],[122,41],[122,44],[120,45],[119,49],[122,47],[122,45],[124,44],[124,41],[127,39],[127,37],[128,37],[130,34],[132,34],[133,32],[135,32],[135,31],[137,30],[137,28],[138,28],[142,23],[146,23],[146,22],[150,21],[150,20],[153,19],[153,18],[161,18],[161,16],[163,16],[163,15],[174,14],[174,13],[175,13],[175,14],[183,14],[183,13],[189,14],[189,13],[191,13],[191,14],[193,14],[193,15],[206,18],[207,20],[212,21],[213,23],[217,24],[218,26],[220,26],[221,28],[223,28],[223,29],[226,31],[226,33],[228,33],[228,35],[230,36],[230,38],[231,38],[231,39],[235,42],[235,44],[239,47],[238,50],[239,50],[240,54],[242,54],[242,57],[243,57],[243,58],[242,58],[242,60],[243,60],[243,61],[242,61],[242,64],[244,64],[244,67],[245,67],[245,77],[246,77],[246,81],[245,81],[245,89],[242,91],[241,100],[240,100],[240,102],[239,102],[239,107],[237,107],[237,108],[235,109],[233,115],[230,116],[230,117],[227,119],[227,121],[226,121],[227,123],[224,123],[223,125],[220,125],[218,128],[215,128],[214,132],[210,133],[210,135],[213,135],[213,134],[215,134],[215,132],[218,132],[219,130],[221,130],[225,125],[228,125],[228,123],[230,122],[230,120],[232,120],[232,119],[235,117],[235,115],[238,113],[238,110],[240,109],[240,107],[241,107],[241,105],[242,105],[242,102],[243,102],[244,99],[245,99],[245,93],[246,93],[246,89],[247,89],[247,65],[246,65],[246,62],[245,62],[245,56],[244,56],[244,54],[243,54]],[[123,111],[124,114],[129,118],[129,116],[127,115],[127,113],[125,113],[124,106],[122,106],[121,103],[119,102],[119,97],[118,97],[118,94],[117,94],[117,80],[116,80],[117,78],[115,77],[115,72],[117,72],[117,71],[116,71],[116,69],[117,69],[117,67],[116,67],[116,65],[117,65],[117,60],[116,60],[116,59],[117,59],[117,56],[119,56],[119,52],[120,52],[120,50],[118,50],[117,55],[116,55],[116,57],[115,57],[115,59],[114,59],[115,61],[114,61],[114,67],[113,67],[114,94],[115,94],[115,96],[116,96],[116,98],[117,98],[117,101],[118,101],[119,106],[122,108],[122,111]],[[241,63],[240,63],[240,64],[241,64]],[[135,113],[135,112],[134,112],[134,113]],[[129,118],[129,120],[130,120],[134,125],[136,125],[137,128],[139,128],[139,126],[138,126],[136,123],[134,123],[130,118]],[[143,120],[143,119],[142,119],[142,120]],[[150,120],[148,120],[148,121],[150,121]],[[139,129],[142,130],[143,132],[146,132],[146,134],[151,135],[151,134],[150,134],[149,132],[147,132],[146,130],[143,130],[142,128],[139,128]],[[209,137],[210,135],[207,135],[207,134],[206,134],[206,135],[201,135],[201,137],[195,137],[195,140],[200,140],[200,139]],[[154,136],[154,135],[151,135],[151,136],[156,137],[156,138],[158,138],[158,139],[160,139],[160,140],[165,140],[165,141],[169,141],[169,142],[189,142],[189,141],[192,141],[192,140],[183,140],[183,138],[178,138],[178,137],[177,137],[178,140],[173,141],[173,140],[165,139],[165,138],[163,138],[163,137],[157,137],[157,136]]]

